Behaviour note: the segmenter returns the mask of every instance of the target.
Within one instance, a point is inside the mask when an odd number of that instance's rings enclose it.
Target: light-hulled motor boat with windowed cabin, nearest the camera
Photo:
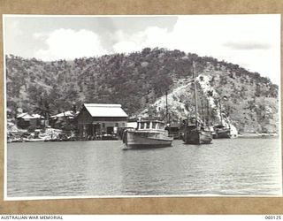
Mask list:
[[[173,137],[164,129],[164,122],[140,120],[136,129],[126,129],[123,142],[126,149],[165,148],[172,146]]]

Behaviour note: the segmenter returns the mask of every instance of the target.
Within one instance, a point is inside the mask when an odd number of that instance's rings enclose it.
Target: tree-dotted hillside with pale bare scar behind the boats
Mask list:
[[[19,107],[34,111],[39,105],[55,114],[73,104],[79,108],[82,103],[121,103],[133,118],[164,117],[167,92],[170,116],[179,122],[194,110],[193,60],[200,115],[209,111],[210,121],[218,123],[221,98],[223,118],[240,132],[278,131],[277,85],[239,65],[180,50],[147,48],[128,55],[53,62],[9,55],[7,106],[14,115]]]

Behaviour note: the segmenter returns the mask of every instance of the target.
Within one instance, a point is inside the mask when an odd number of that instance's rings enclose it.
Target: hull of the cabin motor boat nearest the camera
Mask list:
[[[172,137],[160,133],[127,131],[123,137],[127,149],[166,148],[172,146],[172,141]]]

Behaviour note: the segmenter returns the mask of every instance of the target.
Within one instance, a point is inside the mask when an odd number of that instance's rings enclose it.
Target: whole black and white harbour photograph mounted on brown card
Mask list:
[[[13,15],[4,200],[282,196],[280,15]]]

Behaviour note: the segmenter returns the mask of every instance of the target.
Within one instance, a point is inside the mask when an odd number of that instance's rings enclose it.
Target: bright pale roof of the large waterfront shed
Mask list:
[[[120,104],[109,103],[84,103],[92,117],[123,117],[127,118],[126,112]]]

